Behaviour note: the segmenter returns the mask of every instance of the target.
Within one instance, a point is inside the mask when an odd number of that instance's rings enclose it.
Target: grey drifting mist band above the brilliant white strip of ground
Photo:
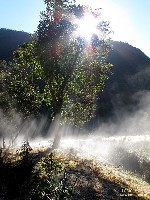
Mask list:
[[[134,94],[133,98],[139,103],[133,112],[127,109],[115,108],[114,116],[106,122],[101,122],[94,131],[78,130],[71,126],[61,126],[59,116],[50,124],[48,117],[24,119],[23,115],[11,111],[9,116],[0,110],[0,137],[12,139],[20,137],[23,140],[37,140],[41,138],[47,140],[53,138],[56,132],[60,132],[62,138],[67,137],[119,137],[149,135],[150,133],[150,92],[143,91]],[[113,118],[117,120],[113,120]]]

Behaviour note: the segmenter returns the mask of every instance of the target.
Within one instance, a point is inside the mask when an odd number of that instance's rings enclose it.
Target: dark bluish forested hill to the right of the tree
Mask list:
[[[108,61],[113,74],[99,94],[97,117],[108,119],[118,111],[133,112],[141,95],[150,91],[150,58],[127,43],[112,42]]]

